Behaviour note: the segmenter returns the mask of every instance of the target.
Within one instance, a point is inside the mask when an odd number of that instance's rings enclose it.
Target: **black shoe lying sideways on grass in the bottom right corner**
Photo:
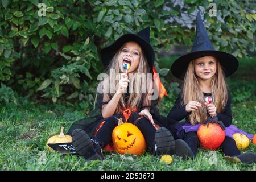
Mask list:
[[[254,154],[253,152],[246,152],[233,157],[225,156],[225,159],[233,163],[242,162],[245,164],[252,164],[252,163],[256,164],[256,154]]]

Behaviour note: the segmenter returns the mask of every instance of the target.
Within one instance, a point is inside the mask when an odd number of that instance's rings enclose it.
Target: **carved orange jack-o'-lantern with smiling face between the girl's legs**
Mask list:
[[[112,140],[115,151],[119,154],[142,155],[146,150],[146,141],[141,131],[131,123],[123,123],[122,118],[113,130]]]

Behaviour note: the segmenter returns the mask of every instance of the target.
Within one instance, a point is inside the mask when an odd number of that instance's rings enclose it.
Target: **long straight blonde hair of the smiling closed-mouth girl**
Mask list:
[[[228,100],[228,88],[225,82],[224,72],[221,64],[216,60],[217,70],[215,75],[212,77],[211,90],[213,96],[213,104],[216,106],[217,112],[224,110],[226,102]],[[190,61],[187,72],[184,78],[183,92],[181,97],[181,105],[188,104],[189,101],[200,102],[203,107],[192,111],[188,116],[188,120],[192,125],[197,123],[203,123],[207,119],[207,109],[204,105],[204,94],[200,90],[199,82],[195,73],[195,60]]]

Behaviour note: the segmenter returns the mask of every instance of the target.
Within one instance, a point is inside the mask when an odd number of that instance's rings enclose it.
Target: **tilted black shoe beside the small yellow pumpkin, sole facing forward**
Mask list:
[[[98,142],[91,139],[84,130],[75,129],[72,133],[72,144],[77,154],[86,160],[102,160],[101,147]]]

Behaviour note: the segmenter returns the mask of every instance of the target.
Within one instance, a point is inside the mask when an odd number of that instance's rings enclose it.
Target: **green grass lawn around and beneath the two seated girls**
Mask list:
[[[160,61],[161,68],[169,68],[174,58]],[[256,57],[240,60],[236,74],[228,78],[232,93],[233,125],[256,133]],[[168,81],[177,81],[168,74]],[[162,102],[163,115],[171,109],[175,98]],[[170,165],[148,153],[140,157],[104,152],[105,159],[86,161],[76,155],[63,155],[47,151],[46,141],[64,126],[86,117],[80,107],[61,104],[35,104],[24,102],[18,106],[0,106],[0,170],[256,170],[255,165],[233,164],[224,159],[222,151],[199,150],[195,159],[186,161],[177,156]],[[242,152],[256,152],[256,145]]]

